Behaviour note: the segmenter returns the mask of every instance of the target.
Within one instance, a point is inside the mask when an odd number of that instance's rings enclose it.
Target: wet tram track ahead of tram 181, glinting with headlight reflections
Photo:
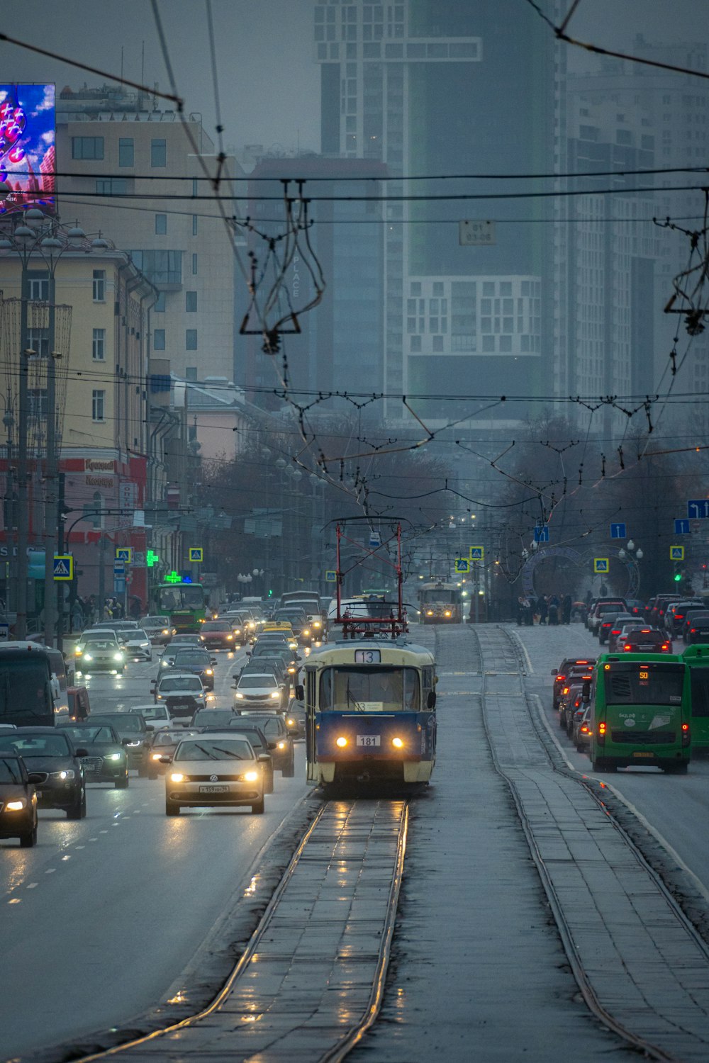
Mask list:
[[[407,830],[405,799],[324,802],[207,1007],[139,1036],[113,1030],[122,1043],[62,1060],[344,1059],[382,1003]]]

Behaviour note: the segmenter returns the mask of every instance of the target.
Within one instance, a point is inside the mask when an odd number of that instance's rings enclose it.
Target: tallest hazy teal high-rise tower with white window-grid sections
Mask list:
[[[417,395],[544,393],[552,226],[493,173],[553,171],[555,43],[529,9],[482,0],[315,4],[322,151],[387,164],[385,389]],[[487,180],[459,175],[485,175]],[[452,180],[458,175],[458,180]],[[534,188],[535,185],[526,185]],[[463,219],[496,221],[465,247]],[[470,402],[419,401],[432,421]]]

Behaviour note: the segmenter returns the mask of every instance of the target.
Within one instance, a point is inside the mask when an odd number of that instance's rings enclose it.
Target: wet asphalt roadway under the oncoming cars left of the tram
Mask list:
[[[215,704],[229,706],[244,653],[216,656]],[[129,664],[124,677],[89,679],[92,710],[151,702],[156,671],[154,657]],[[296,776],[275,773],[263,816],[193,809],[168,820],[164,779],[132,772],[128,790],[90,783],[83,821],[40,811],[34,849],[0,841],[0,1058],[119,1025],[165,1000],[305,792],[298,743]]]

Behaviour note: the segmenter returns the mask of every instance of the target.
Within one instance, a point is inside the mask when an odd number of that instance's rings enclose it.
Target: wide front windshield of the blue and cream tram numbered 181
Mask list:
[[[417,711],[419,690],[412,668],[328,668],[320,678],[320,711]]]

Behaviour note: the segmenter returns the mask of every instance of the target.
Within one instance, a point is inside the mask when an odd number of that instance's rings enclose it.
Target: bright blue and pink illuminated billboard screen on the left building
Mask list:
[[[0,215],[53,209],[55,172],[54,85],[0,85]]]

